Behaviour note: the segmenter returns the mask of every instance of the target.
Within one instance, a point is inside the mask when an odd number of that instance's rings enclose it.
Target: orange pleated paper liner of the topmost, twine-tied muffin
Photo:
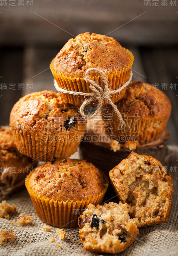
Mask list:
[[[119,71],[108,73],[106,75],[107,81],[109,84],[109,87],[112,90],[118,89],[122,84],[126,83],[128,81],[130,70],[132,68],[132,64],[134,61],[134,55],[132,52],[130,52],[128,49],[125,49],[130,57],[130,62],[127,67],[124,69],[120,69]],[[50,63],[50,70],[59,86],[59,88],[66,89],[68,91],[75,91],[75,92],[92,92],[89,88],[89,83],[84,80],[84,77],[71,77],[71,76],[64,76],[62,74],[57,73],[54,70],[53,66],[54,59]],[[99,76],[93,76],[90,77],[90,79],[99,82],[103,87],[103,81]],[[112,94],[111,99],[113,102],[117,102],[120,100],[126,92],[126,88],[123,89],[121,92],[117,92],[115,94]],[[72,94],[64,94],[65,100],[73,104],[75,106],[80,106],[81,103],[85,100],[84,96],[81,95],[72,95]],[[86,97],[87,98],[87,97]],[[108,104],[107,101],[105,101],[105,104]],[[91,102],[88,107],[90,106],[97,106],[97,102]]]

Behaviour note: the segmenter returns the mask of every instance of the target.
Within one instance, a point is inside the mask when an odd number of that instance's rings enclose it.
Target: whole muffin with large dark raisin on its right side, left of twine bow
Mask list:
[[[13,106],[10,114],[17,149],[38,161],[74,154],[85,125],[62,94],[53,91],[27,94]]]

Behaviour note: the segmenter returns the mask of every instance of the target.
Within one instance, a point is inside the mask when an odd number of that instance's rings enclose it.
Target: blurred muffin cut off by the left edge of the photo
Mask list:
[[[12,129],[0,127],[0,200],[13,189],[25,184],[24,179],[35,161],[17,151]]]

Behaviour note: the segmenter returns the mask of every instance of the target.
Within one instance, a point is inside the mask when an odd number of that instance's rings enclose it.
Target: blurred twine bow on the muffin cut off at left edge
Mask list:
[[[8,167],[4,168],[0,179],[0,183],[3,184],[0,186],[0,200],[3,200],[5,196],[11,193],[15,188],[24,184],[24,180],[15,184],[16,178],[16,173],[11,172]]]

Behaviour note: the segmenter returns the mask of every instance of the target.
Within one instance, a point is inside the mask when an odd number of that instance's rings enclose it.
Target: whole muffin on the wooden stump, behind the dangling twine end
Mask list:
[[[125,121],[122,128],[111,106],[106,106],[103,113],[104,116],[112,113],[111,133],[121,143],[125,142],[125,147],[130,150],[159,139],[171,114],[171,103],[166,94],[140,81],[128,85],[117,108]]]

